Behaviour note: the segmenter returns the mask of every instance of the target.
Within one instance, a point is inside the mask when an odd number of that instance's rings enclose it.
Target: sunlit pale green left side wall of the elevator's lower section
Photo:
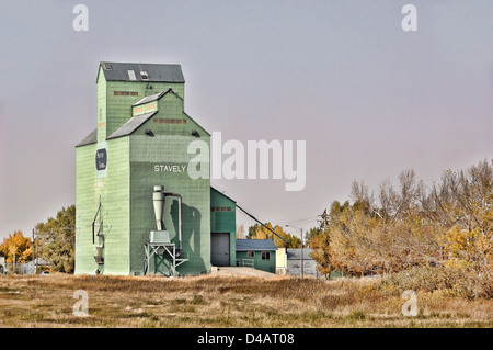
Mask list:
[[[101,145],[101,144],[100,144]],[[107,142],[107,176],[98,178],[95,151],[99,145],[78,147],[76,180],[76,273],[93,274],[98,268],[102,273],[128,274],[129,271],[129,170],[128,140]],[[96,246],[103,240],[95,237],[92,242],[92,222],[98,206],[102,204],[104,264],[94,261]],[[96,226],[98,230],[98,226]]]

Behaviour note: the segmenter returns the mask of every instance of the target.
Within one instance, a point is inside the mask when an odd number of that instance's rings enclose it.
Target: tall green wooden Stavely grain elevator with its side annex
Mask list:
[[[209,149],[210,134],[184,111],[181,66],[100,63],[96,83],[96,127],[76,146],[76,273],[233,266],[234,202],[187,172],[191,143]]]

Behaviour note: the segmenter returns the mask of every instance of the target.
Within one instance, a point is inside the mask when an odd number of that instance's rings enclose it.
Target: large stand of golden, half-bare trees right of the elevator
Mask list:
[[[397,188],[383,180],[370,191],[354,181],[351,201],[334,201],[328,227],[310,237],[319,271],[367,275],[443,266],[492,276],[492,165],[446,170],[431,185],[413,170],[399,174]]]

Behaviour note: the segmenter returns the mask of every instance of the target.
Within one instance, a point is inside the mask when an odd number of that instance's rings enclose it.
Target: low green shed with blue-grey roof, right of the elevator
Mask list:
[[[271,239],[237,239],[237,267],[276,273],[276,251]]]

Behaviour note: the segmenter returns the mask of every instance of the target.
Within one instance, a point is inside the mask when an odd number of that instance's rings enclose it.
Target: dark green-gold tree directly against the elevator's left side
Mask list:
[[[35,227],[41,239],[39,258],[56,271],[72,272],[76,259],[76,206],[62,207],[57,216]]]

